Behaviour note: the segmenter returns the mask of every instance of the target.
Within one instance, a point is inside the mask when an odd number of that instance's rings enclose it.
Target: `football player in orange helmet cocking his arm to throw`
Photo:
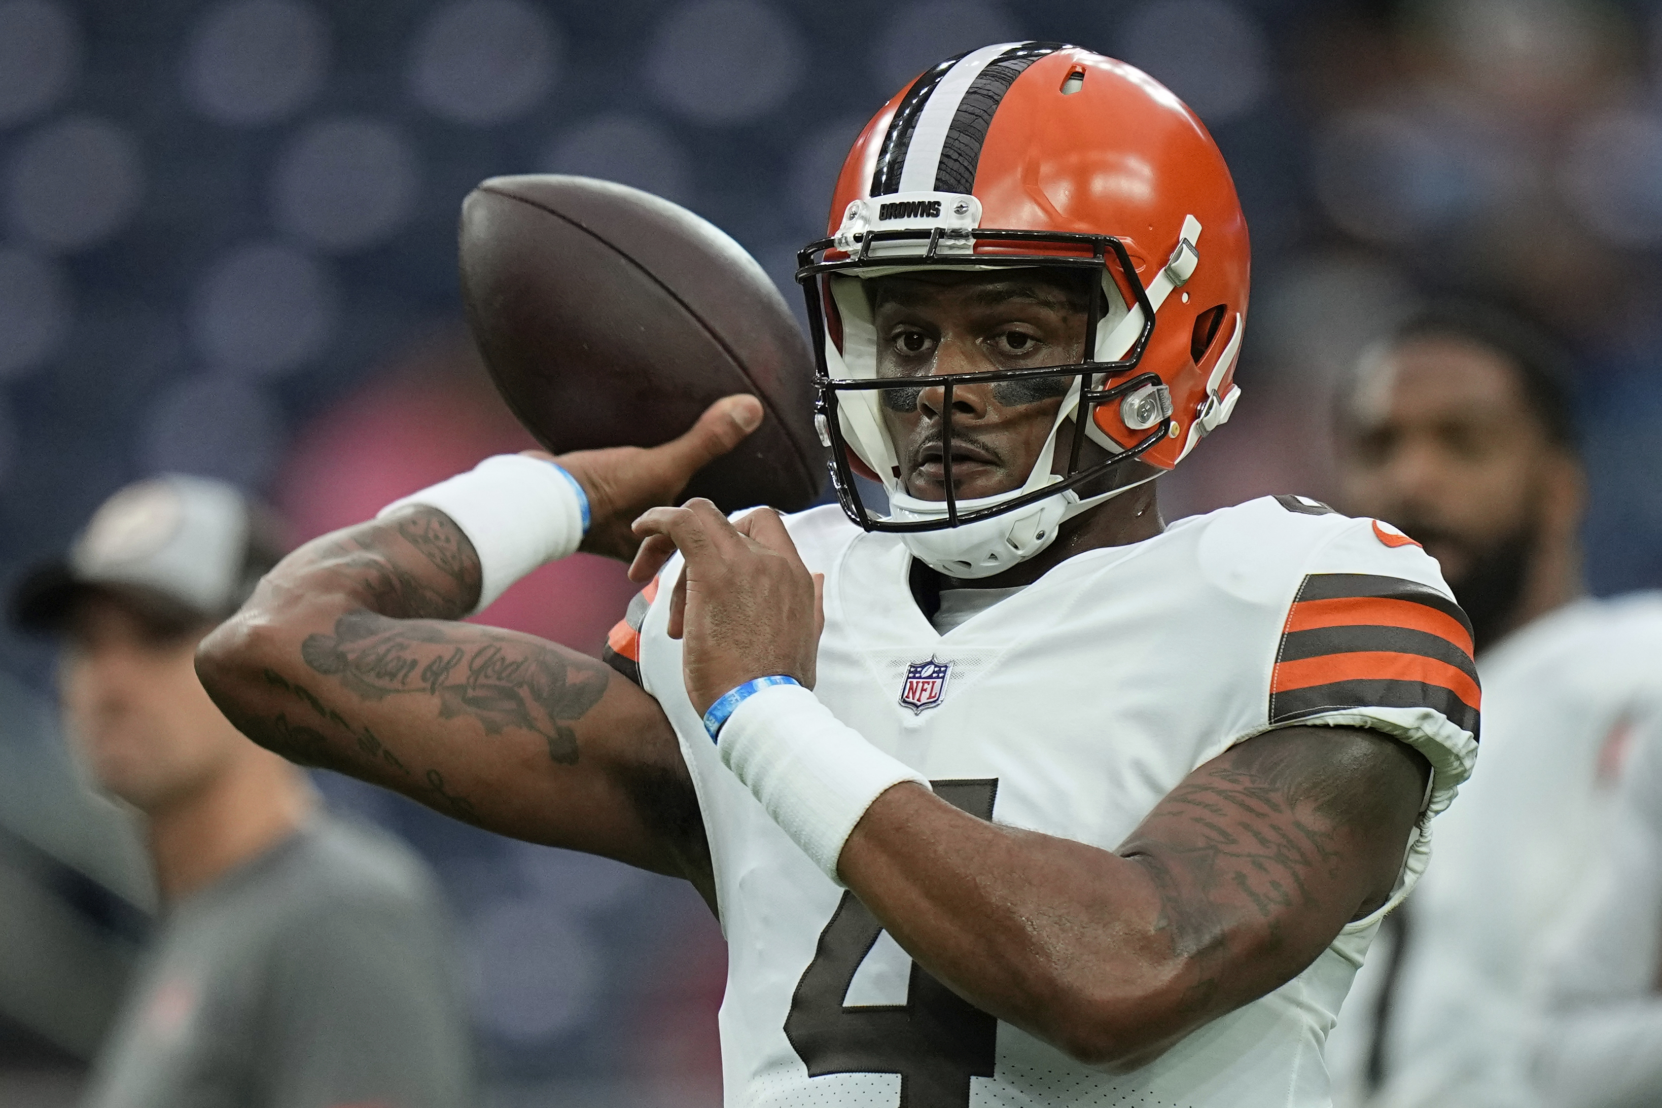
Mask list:
[[[1326,1103],[1479,694],[1394,528],[1160,518],[1240,397],[1217,146],[1124,63],[1001,43],[878,113],[829,231],[799,279],[841,505],[642,515],[745,397],[489,458],[286,561],[206,684],[289,757],[693,882],[730,1105]],[[647,581],[612,668],[454,623],[578,547]]]

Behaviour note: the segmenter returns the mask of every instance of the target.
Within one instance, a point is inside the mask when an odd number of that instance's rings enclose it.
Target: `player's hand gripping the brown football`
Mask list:
[[[529,457],[555,462],[588,493],[588,533],[580,550],[628,561],[640,547],[630,525],[648,508],[675,503],[686,482],[761,425],[761,400],[721,397],[680,439],[661,447],[610,447]]]

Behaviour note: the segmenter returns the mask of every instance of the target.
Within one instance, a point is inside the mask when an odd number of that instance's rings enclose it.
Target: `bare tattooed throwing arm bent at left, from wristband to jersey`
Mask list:
[[[467,535],[434,508],[336,532],[289,555],[249,601],[254,623],[274,631],[211,636],[203,683],[238,729],[291,761],[474,824],[524,827],[524,812],[497,802],[524,796],[509,774],[537,749],[555,764],[578,761],[578,733],[593,726],[578,721],[600,714],[612,669],[529,635],[454,623],[479,603],[480,578]],[[567,777],[573,789],[618,787],[696,882],[708,874],[703,824],[673,733],[665,743],[666,721],[638,703],[610,719],[623,734],[607,736],[585,772],[560,774],[553,794]],[[480,734],[502,743],[470,757]],[[617,751],[618,738],[638,749]]]

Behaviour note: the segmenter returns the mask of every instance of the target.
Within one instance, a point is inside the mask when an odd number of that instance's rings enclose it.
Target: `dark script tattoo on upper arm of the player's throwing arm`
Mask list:
[[[600,703],[610,679],[597,661],[520,636],[372,611],[351,611],[336,620],[334,635],[309,636],[301,658],[362,701],[432,696],[440,719],[467,716],[485,734],[540,734],[562,764],[577,761],[577,734],[567,724]]]

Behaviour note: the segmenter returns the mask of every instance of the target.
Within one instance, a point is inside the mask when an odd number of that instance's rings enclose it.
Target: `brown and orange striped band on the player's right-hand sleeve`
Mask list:
[[[1270,721],[1346,708],[1433,708],[1478,734],[1471,623],[1443,593],[1394,576],[1311,573],[1286,616]]]

